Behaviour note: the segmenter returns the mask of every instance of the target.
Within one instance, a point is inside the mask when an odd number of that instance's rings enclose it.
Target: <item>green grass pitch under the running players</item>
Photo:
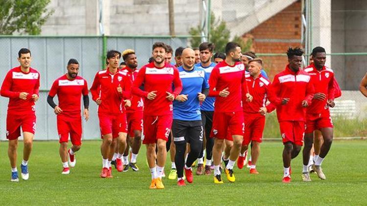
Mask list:
[[[212,176],[195,175],[192,185],[180,188],[176,181],[164,179],[163,190],[148,189],[150,172],[143,147],[138,157],[139,172],[114,170],[113,179],[101,179],[100,142],[83,143],[69,175],[60,174],[58,145],[35,142],[30,179],[12,183],[7,143],[0,143],[0,205],[367,205],[367,141],[335,141],[323,163],[326,181],[312,174],[312,182],[302,182],[298,156],[292,162],[292,183],[281,183],[282,144],[264,142],[257,164],[259,175],[250,175],[247,169],[239,170],[235,165],[235,183],[223,177],[225,184],[214,185]],[[169,170],[167,161],[166,174]]]

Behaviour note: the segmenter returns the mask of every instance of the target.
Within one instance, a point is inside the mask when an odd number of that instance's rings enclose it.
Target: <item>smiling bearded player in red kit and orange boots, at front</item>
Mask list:
[[[166,45],[153,44],[154,62],[141,67],[132,87],[132,94],[144,99],[143,144],[146,144],[147,161],[152,175],[149,188],[163,189],[161,177],[167,151],[166,142],[172,126],[172,101],[180,94],[182,82],[179,71],[164,61]],[[139,87],[144,84],[144,91]],[[174,91],[172,91],[174,86]],[[158,152],[156,153],[156,146]],[[156,166],[157,160],[157,166]]]

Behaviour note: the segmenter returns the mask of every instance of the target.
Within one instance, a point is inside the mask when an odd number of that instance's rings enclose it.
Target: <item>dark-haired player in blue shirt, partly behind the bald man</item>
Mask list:
[[[200,63],[195,64],[198,68],[202,68],[205,71],[206,79],[208,80],[210,77],[210,73],[213,70],[215,63],[211,62],[211,58],[213,56],[214,44],[203,42],[199,46],[200,50]],[[197,175],[211,175],[211,156],[212,149],[214,145],[214,139],[209,138],[211,126],[213,125],[213,112],[214,112],[214,97],[207,97],[205,101],[202,103],[201,109],[201,118],[204,127],[204,142],[203,147],[200,152],[198,158],[198,166],[196,168]],[[205,171],[204,170],[204,151],[206,150],[206,164]]]

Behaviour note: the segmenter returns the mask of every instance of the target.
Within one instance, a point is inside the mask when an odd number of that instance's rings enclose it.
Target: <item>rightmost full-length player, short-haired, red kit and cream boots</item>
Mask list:
[[[326,53],[325,49],[317,46],[312,50],[312,59],[314,61],[304,71],[311,76],[311,83],[315,89],[312,103],[309,105],[306,114],[306,131],[303,147],[303,169],[302,180],[311,181],[308,171],[310,159],[310,150],[314,141],[314,131],[321,131],[323,143],[321,145],[320,155],[312,165],[312,169],[318,174],[321,180],[326,177],[321,169],[321,163],[326,157],[331,143],[333,141],[333,123],[330,117],[329,107],[334,107],[334,72],[325,67]]]

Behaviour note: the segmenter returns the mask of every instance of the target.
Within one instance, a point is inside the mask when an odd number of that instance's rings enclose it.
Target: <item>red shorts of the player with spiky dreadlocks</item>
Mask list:
[[[283,143],[292,142],[294,144],[302,146],[305,125],[305,122],[302,121],[279,122],[280,133],[282,135]]]

